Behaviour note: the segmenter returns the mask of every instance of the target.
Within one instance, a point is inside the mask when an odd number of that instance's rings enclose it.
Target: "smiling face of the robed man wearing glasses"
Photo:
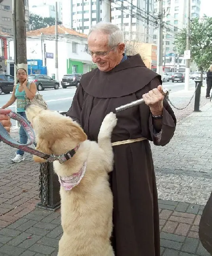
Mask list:
[[[97,64],[99,70],[107,72],[113,69],[122,60],[124,43],[118,44],[118,46],[112,50],[108,46],[107,35],[99,31],[94,31],[88,37],[88,50],[92,53],[92,61]]]

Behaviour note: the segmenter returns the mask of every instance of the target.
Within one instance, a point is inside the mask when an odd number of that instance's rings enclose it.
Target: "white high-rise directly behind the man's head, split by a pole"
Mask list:
[[[88,34],[90,27],[101,21],[101,3],[99,0],[63,0],[63,25]],[[142,42],[152,43],[155,24],[151,3],[151,0],[112,2],[111,22],[126,33],[136,32]]]

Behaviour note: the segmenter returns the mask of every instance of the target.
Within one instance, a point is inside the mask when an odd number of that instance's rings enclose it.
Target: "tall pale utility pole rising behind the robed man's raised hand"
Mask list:
[[[158,15],[158,44],[157,44],[157,73],[162,76],[163,68],[163,1],[159,0],[159,15]]]

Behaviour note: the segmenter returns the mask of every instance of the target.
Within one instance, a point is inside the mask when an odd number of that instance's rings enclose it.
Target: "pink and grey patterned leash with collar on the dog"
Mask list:
[[[25,130],[27,137],[29,139],[29,143],[21,144],[20,142],[13,139],[10,136],[10,134],[6,131],[6,129],[4,129],[4,126],[0,123],[0,141],[4,142],[5,144],[13,148],[21,149],[24,152],[30,153],[35,156],[39,156],[40,158],[43,158],[48,162],[59,161],[60,164],[63,164],[65,161],[72,158],[76,153],[76,150],[78,150],[79,148],[79,145],[77,145],[72,150],[60,156],[44,154],[34,148],[29,147],[32,144],[36,144],[34,130],[32,129],[32,126],[29,124],[29,122],[25,118],[23,118],[21,115],[14,112],[10,112],[8,116],[10,116],[11,119],[18,121],[23,126],[23,129]]]

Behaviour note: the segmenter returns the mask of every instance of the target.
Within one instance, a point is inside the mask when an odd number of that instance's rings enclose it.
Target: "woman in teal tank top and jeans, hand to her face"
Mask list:
[[[18,83],[17,85],[14,85],[11,98],[4,106],[2,106],[2,109],[8,108],[17,100],[17,114],[27,119],[25,109],[24,109],[25,106],[27,105],[27,100],[25,96],[27,96],[30,100],[32,100],[37,92],[37,87],[35,83],[28,82],[27,71],[25,69],[23,68],[17,69],[16,74],[17,74]],[[19,129],[19,142],[22,144],[26,144],[27,141],[28,141],[27,134],[21,125]],[[11,161],[15,163],[19,163],[25,160],[23,155],[24,155],[24,151],[19,149],[16,152],[15,158],[11,159]]]

